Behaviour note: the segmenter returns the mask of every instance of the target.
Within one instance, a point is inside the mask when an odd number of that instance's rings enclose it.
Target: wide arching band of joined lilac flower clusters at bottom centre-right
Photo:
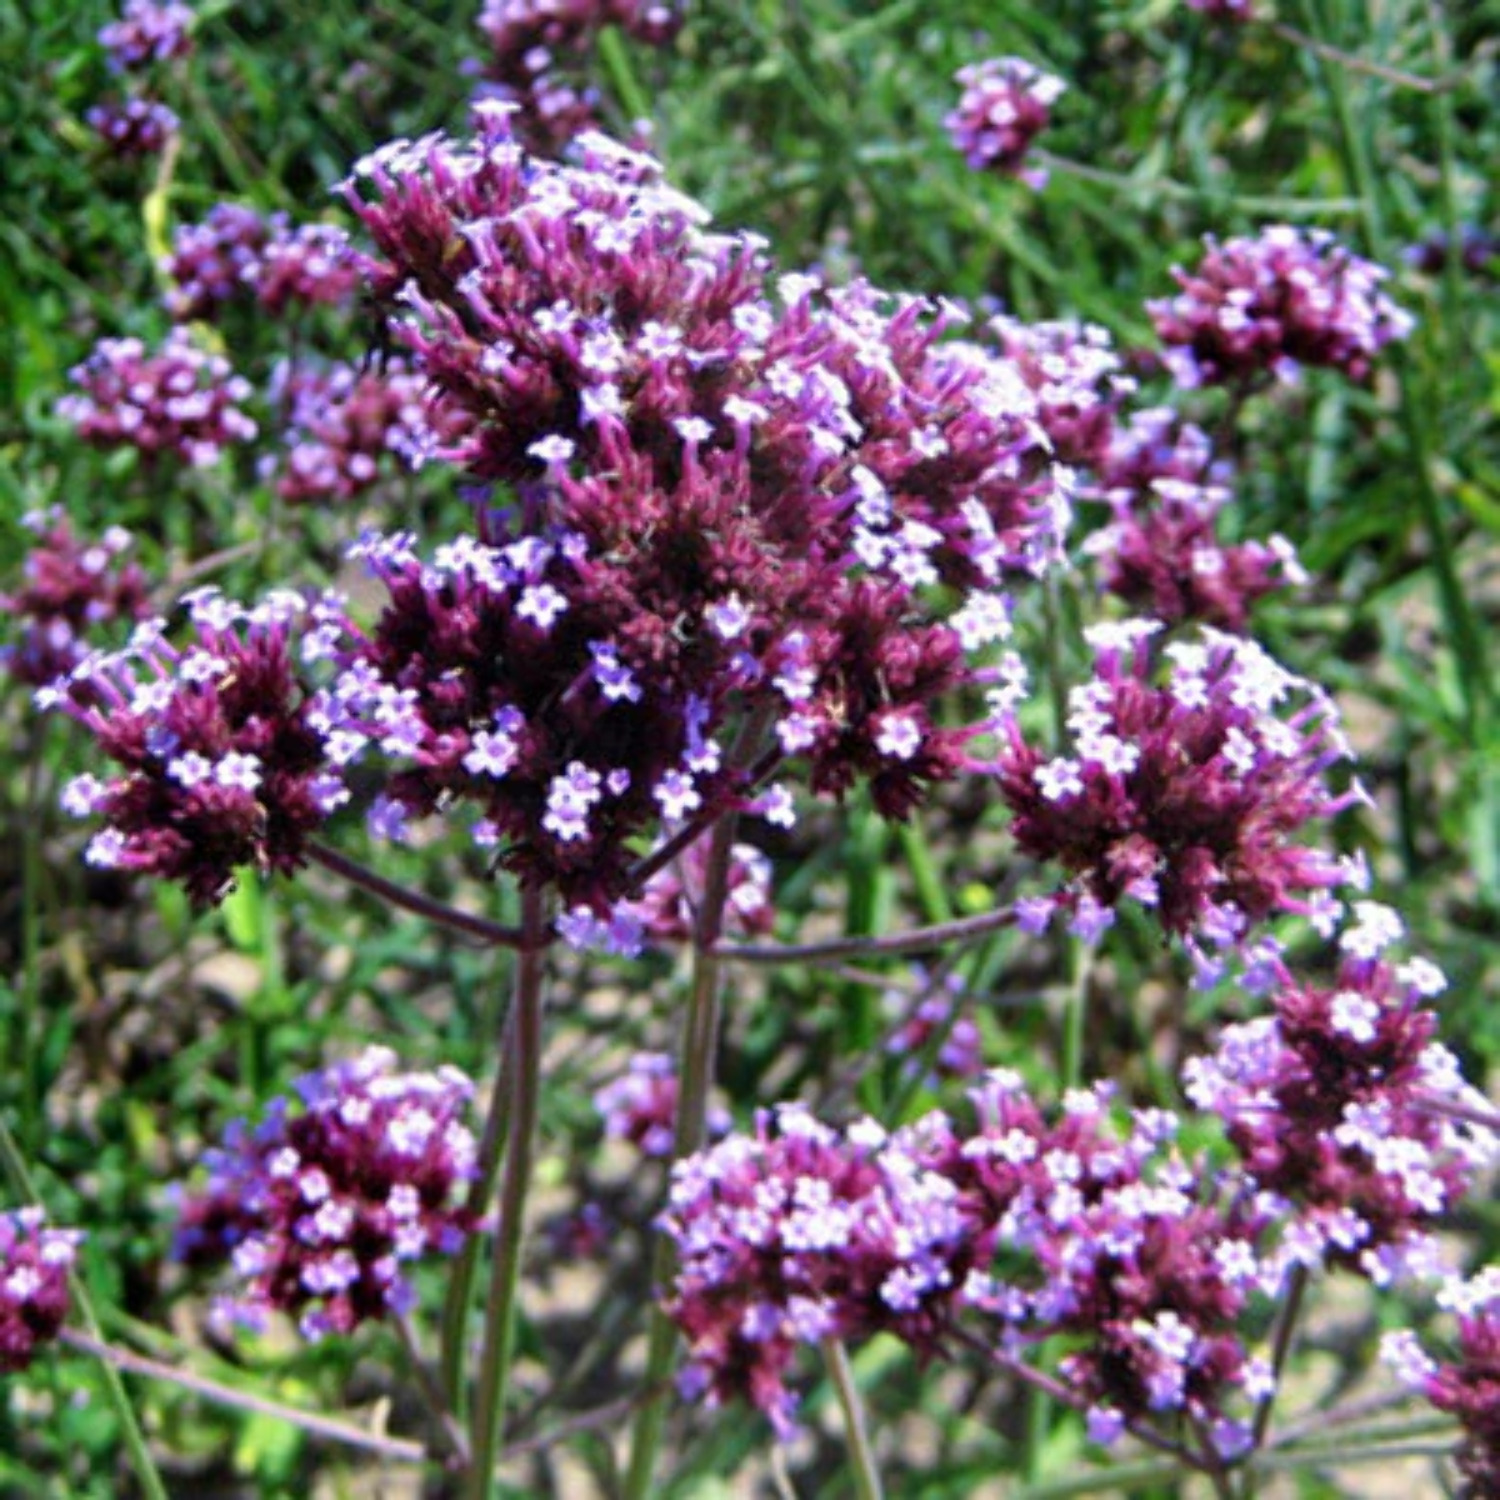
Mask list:
[[[933,1113],[896,1134],[868,1119],[838,1134],[782,1106],[674,1170],[668,1310],[687,1394],[747,1398],[784,1434],[800,1346],[885,1332],[922,1358],[1014,1358],[1066,1334],[1065,1374],[1101,1440],[1186,1413],[1220,1456],[1244,1448],[1227,1412],[1268,1371],[1236,1324],[1280,1274],[1264,1206],[1167,1149],[1161,1112],[1122,1137],[1100,1092],[1077,1094],[1048,1124],[1006,1072],[974,1101],[972,1128]],[[992,1320],[998,1342],[964,1328]]]

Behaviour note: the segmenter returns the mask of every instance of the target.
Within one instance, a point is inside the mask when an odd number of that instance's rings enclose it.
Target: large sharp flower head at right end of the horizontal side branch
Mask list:
[[[1002,722],[999,790],[1016,843],[1068,873],[1050,904],[1095,927],[1131,897],[1168,933],[1218,948],[1276,912],[1326,916],[1348,872],[1294,838],[1362,795],[1326,782],[1348,758],[1332,702],[1260,646],[1214,630],[1168,645],[1156,686],[1156,630],[1132,621],[1089,633],[1094,678],[1070,694],[1064,754]]]

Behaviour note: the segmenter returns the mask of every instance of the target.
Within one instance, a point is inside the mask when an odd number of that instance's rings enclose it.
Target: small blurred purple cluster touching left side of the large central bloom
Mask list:
[[[423,384],[399,364],[282,366],[270,400],[286,412],[284,453],[264,476],[288,504],[339,504],[366,494],[388,458],[420,466],[432,441]]]

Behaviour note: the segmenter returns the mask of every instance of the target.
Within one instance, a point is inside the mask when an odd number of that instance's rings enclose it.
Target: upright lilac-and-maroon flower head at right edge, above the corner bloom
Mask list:
[[[1432,1040],[1442,972],[1383,956],[1400,933],[1388,908],[1356,903],[1334,981],[1282,969],[1272,1014],[1230,1026],[1185,1074],[1256,1185],[1294,1206],[1286,1256],[1380,1284],[1426,1269],[1430,1230],[1500,1155],[1494,1132],[1440,1113],[1484,1100]]]

